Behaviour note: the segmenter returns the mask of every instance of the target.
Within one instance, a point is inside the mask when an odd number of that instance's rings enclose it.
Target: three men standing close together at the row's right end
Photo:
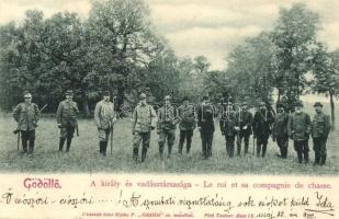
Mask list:
[[[329,116],[324,114],[323,104],[314,104],[315,115],[310,116],[303,111],[303,103],[295,103],[295,111],[292,114],[286,112],[284,105],[278,105],[278,116],[273,124],[273,140],[276,141],[281,158],[287,157],[289,138],[294,141],[294,150],[297,153],[298,163],[309,161],[309,137],[313,138],[315,151],[315,165],[324,165],[326,162],[326,142],[331,128]]]

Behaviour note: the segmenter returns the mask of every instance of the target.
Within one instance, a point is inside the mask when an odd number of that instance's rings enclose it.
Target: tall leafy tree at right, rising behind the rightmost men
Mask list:
[[[305,91],[305,73],[312,69],[318,24],[318,15],[307,10],[305,4],[296,3],[291,9],[281,9],[271,32],[276,47],[274,85],[279,95],[284,93],[289,100],[295,100]]]

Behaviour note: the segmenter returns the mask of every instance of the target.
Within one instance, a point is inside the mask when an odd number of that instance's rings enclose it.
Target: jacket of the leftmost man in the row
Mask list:
[[[19,130],[34,130],[37,127],[39,111],[35,103],[20,103],[13,111]]]

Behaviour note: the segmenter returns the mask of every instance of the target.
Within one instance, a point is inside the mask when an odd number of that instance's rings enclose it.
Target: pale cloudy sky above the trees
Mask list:
[[[225,57],[246,37],[269,31],[281,7],[294,2],[320,15],[323,28],[318,39],[330,50],[339,48],[338,0],[148,0],[157,31],[182,56],[204,55],[212,69],[224,69]],[[0,25],[21,21],[29,9],[43,10],[45,16],[55,12],[78,12],[87,18],[90,0],[0,0]]]

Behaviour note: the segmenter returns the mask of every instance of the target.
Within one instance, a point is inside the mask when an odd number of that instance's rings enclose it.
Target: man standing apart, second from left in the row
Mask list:
[[[60,128],[59,151],[63,151],[65,141],[67,140],[66,152],[68,152],[75,130],[78,128],[77,115],[79,114],[79,108],[78,104],[72,101],[74,92],[71,90],[67,90],[65,96],[66,100],[59,103],[56,117],[58,128]]]

